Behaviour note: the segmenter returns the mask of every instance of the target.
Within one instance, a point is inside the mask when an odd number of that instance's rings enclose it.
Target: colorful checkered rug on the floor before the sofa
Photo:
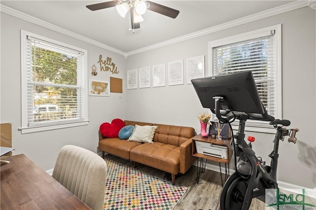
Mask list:
[[[106,159],[105,210],[172,210],[187,187]]]

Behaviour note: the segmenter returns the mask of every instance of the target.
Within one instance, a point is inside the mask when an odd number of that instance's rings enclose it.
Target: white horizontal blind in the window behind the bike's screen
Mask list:
[[[276,114],[274,37],[272,34],[213,48],[213,75],[252,71],[261,102],[272,116]]]

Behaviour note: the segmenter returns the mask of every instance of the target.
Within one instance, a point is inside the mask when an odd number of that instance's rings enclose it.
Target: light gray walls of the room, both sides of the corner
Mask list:
[[[0,122],[12,122],[12,141],[15,154],[24,153],[44,170],[53,168],[60,148],[74,144],[97,152],[98,128],[114,118],[155,123],[192,126],[199,133],[197,115],[203,109],[192,85],[186,84],[186,59],[205,56],[205,76],[208,76],[208,42],[239,33],[282,24],[282,101],[283,118],[299,127],[298,143],[280,143],[277,179],[283,182],[315,188],[316,186],[316,11],[304,7],[291,12],[258,20],[231,29],[218,31],[195,39],[158,48],[124,60],[122,56],[87,44],[66,35],[47,30],[29,22],[1,13],[1,107]],[[88,78],[123,79],[123,93],[110,97],[89,96],[89,125],[21,134],[20,30],[38,33],[88,51]],[[100,72],[91,76],[91,66],[99,55],[112,57],[120,71],[118,75]],[[126,70],[183,60],[184,85],[127,90]],[[99,68],[98,68],[99,69]],[[167,69],[167,66],[166,66]],[[167,73],[167,71],[166,71]],[[167,78],[167,76],[166,76]],[[304,111],[302,111],[304,110]],[[305,120],[306,118],[306,120]],[[272,151],[273,134],[248,132],[256,137],[254,150],[268,160]]]

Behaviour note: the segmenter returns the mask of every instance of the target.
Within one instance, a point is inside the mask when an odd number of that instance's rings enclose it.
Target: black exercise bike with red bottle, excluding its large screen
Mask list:
[[[215,97],[215,107],[219,108],[221,98]],[[290,125],[289,120],[275,120],[274,117],[268,115],[250,114],[250,113],[235,113],[234,111],[226,111],[221,113],[215,108],[215,114],[220,122],[231,123],[234,120],[239,120],[238,132],[233,136],[233,140],[229,146],[235,151],[235,170],[231,177],[225,182],[221,197],[220,210],[248,210],[252,198],[264,199],[266,189],[277,189],[276,169],[278,159],[279,141],[283,141],[285,136],[289,136],[288,142],[296,143],[297,128],[286,129],[285,126]],[[228,116],[223,118],[222,115]],[[234,119],[230,121],[231,119]],[[276,129],[274,139],[274,149],[269,154],[271,158],[270,166],[262,161],[260,157],[256,157],[252,150],[251,142],[253,138],[248,138],[247,144],[244,140],[245,122],[248,119],[252,120],[269,120],[270,124]],[[236,139],[236,142],[234,141]],[[228,143],[227,143],[228,144]],[[236,161],[236,157],[239,159]]]

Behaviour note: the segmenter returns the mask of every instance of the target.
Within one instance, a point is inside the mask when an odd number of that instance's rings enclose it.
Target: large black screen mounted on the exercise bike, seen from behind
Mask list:
[[[221,96],[221,110],[264,114],[251,71],[191,80],[204,108],[215,109],[214,96]]]

